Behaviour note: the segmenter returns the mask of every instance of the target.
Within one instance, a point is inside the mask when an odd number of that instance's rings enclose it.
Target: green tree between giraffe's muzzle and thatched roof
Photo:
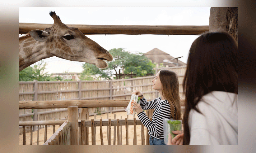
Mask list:
[[[83,65],[84,71],[81,73],[81,80],[105,78],[110,79],[111,76],[117,78],[119,69],[124,75],[136,74],[137,76],[145,76],[146,74],[154,74],[153,68],[155,64],[151,62],[143,53],[137,52],[135,54],[125,51],[123,48],[111,49],[109,53],[113,56],[113,60],[108,62],[109,66],[104,69],[99,69],[95,65],[85,63]]]

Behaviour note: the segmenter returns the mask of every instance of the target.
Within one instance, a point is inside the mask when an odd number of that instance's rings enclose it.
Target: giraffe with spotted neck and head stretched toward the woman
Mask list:
[[[54,24],[44,30],[31,30],[20,37],[20,71],[31,64],[52,56],[80,61],[106,68],[104,61],[112,55],[99,44],[86,37],[78,28],[63,24],[55,11],[50,11]]]

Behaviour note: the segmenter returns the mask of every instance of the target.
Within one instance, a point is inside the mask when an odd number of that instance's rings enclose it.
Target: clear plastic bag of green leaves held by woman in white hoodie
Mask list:
[[[171,133],[172,139],[177,135],[172,133],[172,131],[181,131],[182,129],[182,120],[170,120],[164,119],[164,140],[167,145],[168,142],[168,134]]]

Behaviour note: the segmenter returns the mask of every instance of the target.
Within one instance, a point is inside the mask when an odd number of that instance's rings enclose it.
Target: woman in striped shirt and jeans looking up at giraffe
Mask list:
[[[175,72],[161,70],[152,82],[152,88],[159,91],[160,97],[147,102],[142,92],[135,90],[132,94],[137,94],[141,99],[140,104],[134,103],[134,108],[142,124],[149,130],[150,145],[165,145],[163,119],[181,119],[178,76]],[[142,109],[154,108],[151,121]]]

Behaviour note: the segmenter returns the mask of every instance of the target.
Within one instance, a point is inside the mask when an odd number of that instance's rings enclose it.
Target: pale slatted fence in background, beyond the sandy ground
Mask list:
[[[179,77],[180,97],[184,99],[182,81],[186,66],[156,68],[156,73],[161,69],[169,69]],[[130,100],[131,93],[137,89],[143,92],[146,99],[159,96],[158,91],[152,89],[151,80],[155,76],[138,77],[132,79],[107,80],[107,81],[28,81],[20,82],[20,101],[60,101],[60,100]],[[88,108],[89,116],[97,113],[124,111],[126,107],[98,107]],[[32,112],[33,109],[33,112]],[[81,112],[79,108],[78,112]],[[66,120],[66,108],[41,108],[21,109],[20,121],[36,120]],[[20,134],[21,132],[20,126]],[[41,126],[39,127],[41,128]],[[36,129],[36,127],[34,127]],[[30,131],[29,127],[26,129]],[[35,130],[34,130],[35,131]]]

